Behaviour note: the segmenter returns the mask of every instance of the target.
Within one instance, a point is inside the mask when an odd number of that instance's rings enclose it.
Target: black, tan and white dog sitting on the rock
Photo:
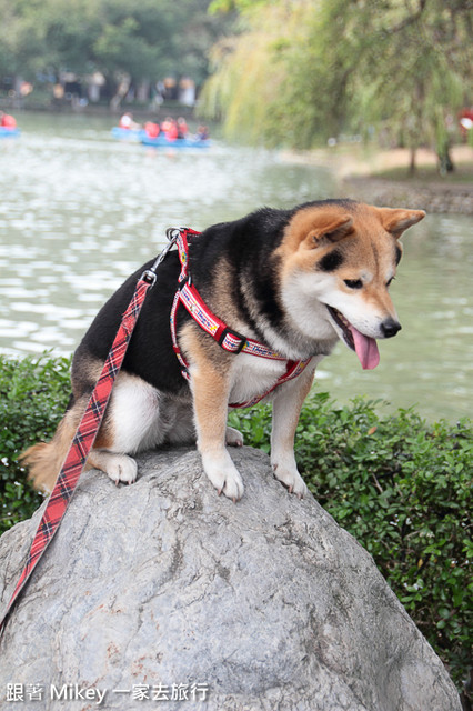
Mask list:
[[[243,481],[225,444],[240,447],[243,440],[227,425],[228,408],[262,398],[273,403],[274,477],[302,498],[306,487],[295,463],[294,434],[315,368],[339,340],[363,369],[378,365],[376,339],[401,329],[389,293],[402,254],[399,238],[424,217],[422,210],[324,200],[289,210],[262,208],[193,233],[185,269],[180,250],[158,268],[87,467],[115,483],[132,483],[133,454],[197,442],[219,494],[238,501]],[[72,395],[53,439],[22,455],[36,488],[52,489],[121,314],[150,266],[109,299],[76,350]],[[194,320],[192,308],[175,311],[180,279],[188,289],[192,281],[225,327],[220,341]],[[236,350],[222,347],[229,334]],[[245,351],[251,342],[263,357]]]

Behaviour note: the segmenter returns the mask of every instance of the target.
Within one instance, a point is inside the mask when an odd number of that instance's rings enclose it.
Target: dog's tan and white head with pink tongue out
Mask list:
[[[401,329],[389,287],[401,259],[401,234],[422,210],[326,201],[299,209],[278,252],[281,298],[294,324],[311,338],[336,336],[364,369],[379,363],[376,339]]]

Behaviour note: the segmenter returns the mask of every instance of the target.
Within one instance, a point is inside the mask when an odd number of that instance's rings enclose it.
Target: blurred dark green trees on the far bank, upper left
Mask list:
[[[207,52],[229,24],[210,0],[0,0],[0,77],[115,72],[133,80],[207,76]]]

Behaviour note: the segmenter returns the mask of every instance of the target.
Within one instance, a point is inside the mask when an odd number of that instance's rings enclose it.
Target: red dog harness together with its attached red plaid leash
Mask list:
[[[72,494],[76,490],[79,477],[82,473],[82,469],[89,457],[90,450],[95,441],[97,433],[100,428],[107,404],[110,399],[112,387],[117,375],[120,372],[123,359],[133,333],[134,326],[141,311],[141,307],[144,302],[147,293],[151,287],[154,286],[157,280],[155,270],[163,261],[164,257],[177,242],[179,249],[179,257],[181,261],[181,274],[179,277],[179,288],[175,292],[174,302],[171,310],[171,333],[173,340],[174,352],[179,358],[182,365],[182,374],[189,379],[188,365],[182,357],[178,344],[178,338],[175,332],[175,313],[179,304],[182,303],[192,318],[207,331],[218,343],[227,351],[231,353],[251,353],[259,356],[260,358],[269,358],[272,360],[285,361],[286,370],[281,378],[274,383],[274,385],[263,394],[253,398],[251,401],[232,404],[234,408],[250,407],[256,402],[260,402],[270,392],[272,392],[278,385],[292,380],[299,375],[308,365],[311,359],[304,361],[288,361],[285,358],[271,351],[269,348],[254,341],[252,339],[245,339],[240,333],[229,329],[225,323],[215,317],[202,301],[195,287],[192,284],[191,277],[188,270],[189,262],[189,241],[188,238],[199,236],[200,232],[187,228],[180,228],[179,230],[168,230],[167,236],[169,244],[163,249],[151,269],[143,272],[139,279],[132,300],[122,317],[121,324],[110,349],[109,356],[104,362],[102,372],[99,380],[95,383],[95,388],[90,397],[85,412],[79,422],[74,438],[72,440],[70,450],[59,472],[57,482],[49,498],[48,504],[42,514],[38,530],[34,534],[28,559],[24,569],[17,582],[13,594],[10,598],[10,602],[7,605],[2,617],[0,618],[0,635],[3,632],[4,624],[7,622],[8,614],[10,613],[16,600],[26,587],[30,579],[34,568],[37,567],[40,558],[44,553],[47,547],[51,542],[66,510],[72,499]]]

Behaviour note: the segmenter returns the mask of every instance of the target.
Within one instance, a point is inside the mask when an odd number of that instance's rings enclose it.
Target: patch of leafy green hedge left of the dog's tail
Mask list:
[[[54,433],[70,395],[70,359],[0,356],[0,533],[29,518],[42,501],[18,455]]]

